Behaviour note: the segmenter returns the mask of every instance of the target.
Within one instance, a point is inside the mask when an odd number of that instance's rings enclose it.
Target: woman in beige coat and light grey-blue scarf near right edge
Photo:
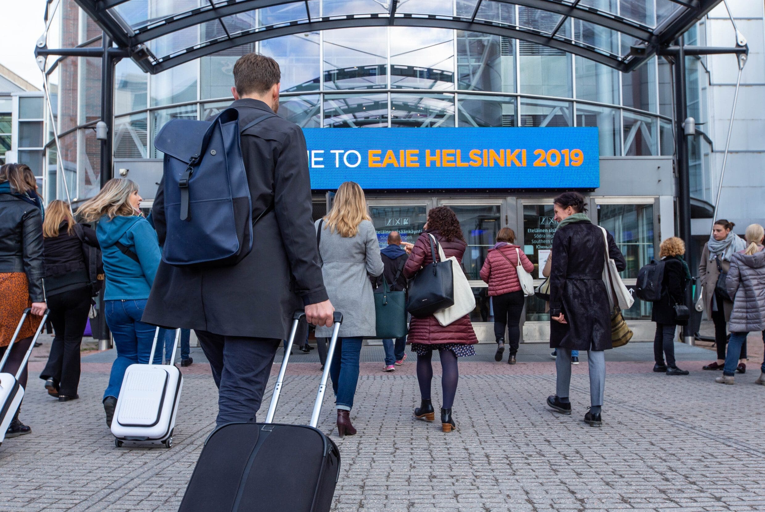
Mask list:
[[[712,226],[712,234],[705,243],[702,260],[698,264],[698,279],[702,283],[702,293],[707,310],[707,318],[715,324],[715,345],[718,358],[714,363],[707,364],[705,370],[722,370],[725,363],[725,346],[728,344],[728,329],[726,323],[731,320],[733,302],[715,291],[720,270],[728,273],[731,268],[731,256],[743,250],[747,244],[733,233],[734,223],[720,219]],[[747,342],[741,351],[741,361],[737,370],[744,373],[747,370]]]

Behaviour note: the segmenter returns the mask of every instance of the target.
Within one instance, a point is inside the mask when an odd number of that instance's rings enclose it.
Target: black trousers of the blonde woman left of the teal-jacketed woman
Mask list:
[[[47,305],[56,336],[40,378],[53,379],[62,395],[76,396],[80,385],[80,344],[90,311],[90,289],[48,295]]]

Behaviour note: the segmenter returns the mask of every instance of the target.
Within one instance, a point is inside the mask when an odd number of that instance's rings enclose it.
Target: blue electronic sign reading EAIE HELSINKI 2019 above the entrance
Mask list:
[[[311,188],[597,188],[597,128],[304,129]]]

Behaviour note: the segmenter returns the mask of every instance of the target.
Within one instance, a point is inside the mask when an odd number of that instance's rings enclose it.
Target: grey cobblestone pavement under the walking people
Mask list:
[[[644,350],[652,359],[651,345]],[[412,359],[392,374],[363,364],[352,413],[360,435],[337,438],[329,399],[322,413],[320,428],[342,454],[334,509],[765,510],[758,366],[721,386],[698,363],[685,364],[689,377],[653,373],[649,362],[608,363],[605,425],[592,429],[581,421],[586,364],[572,378],[572,416],[545,406],[552,360],[464,364],[458,430],[443,434],[438,422],[412,419]],[[184,368],[194,371],[185,372],[173,448],[131,449],[115,448],[103,420],[108,367],[83,365],[81,398],[69,403],[31,377],[21,418],[33,432],[0,446],[0,510],[177,510],[216,414],[209,370]],[[276,420],[307,422],[317,365],[293,364],[288,374]],[[433,391],[438,407],[438,377]]]

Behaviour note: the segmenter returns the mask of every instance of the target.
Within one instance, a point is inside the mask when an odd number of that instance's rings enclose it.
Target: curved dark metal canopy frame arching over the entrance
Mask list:
[[[161,73],[161,71],[190,60],[255,41],[310,31],[380,26],[446,28],[495,34],[554,47],[628,73],[646,63],[647,60],[659,53],[662,47],[672,44],[681,34],[721,2],[721,0],[672,0],[673,4],[677,6],[675,11],[668,18],[660,21],[656,27],[649,27],[611,12],[581,5],[580,0],[567,0],[565,2],[563,0],[493,0],[495,4],[519,5],[561,15],[552,31],[543,31],[539,28],[523,27],[517,21],[515,24],[509,24],[478,18],[481,5],[486,0],[477,0],[470,16],[435,15],[428,12],[422,14],[402,13],[398,10],[399,0],[386,0],[386,10],[379,13],[354,14],[350,12],[343,15],[322,17],[311,16],[307,0],[241,0],[239,2],[235,0],[208,0],[207,3],[190,11],[163,18],[147,19],[133,27],[115,9],[128,1],[75,0],[77,5],[80,5],[80,8],[96,21],[117,47],[129,54],[142,70],[151,74]],[[238,32],[230,31],[223,21],[223,18],[227,16],[279,5],[304,5],[304,19]],[[636,44],[630,47],[629,53],[619,55],[558,34],[570,18],[587,21],[619,32],[627,38],[633,38]],[[155,55],[150,50],[151,42],[158,38],[215,20],[220,22],[225,32],[225,35],[220,38],[203,41],[168,55]],[[622,45],[622,47],[624,46]]]

